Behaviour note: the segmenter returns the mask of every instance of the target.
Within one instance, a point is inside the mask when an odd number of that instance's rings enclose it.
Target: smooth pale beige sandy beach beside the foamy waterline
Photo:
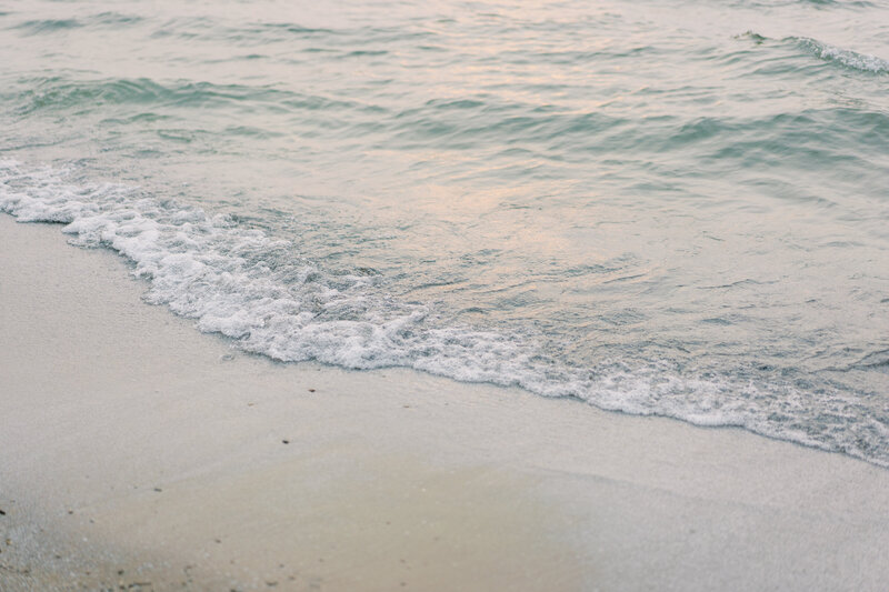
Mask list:
[[[885,590],[889,471],[279,364],[0,215],[0,589]]]

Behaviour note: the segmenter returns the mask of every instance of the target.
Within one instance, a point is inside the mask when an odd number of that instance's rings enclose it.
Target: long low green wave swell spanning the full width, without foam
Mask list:
[[[748,34],[757,43],[765,39]],[[658,98],[651,91],[651,99]],[[236,112],[246,116],[242,126],[226,126],[217,131],[268,139],[276,136],[270,130],[288,130],[296,122],[326,137],[378,134],[378,146],[393,150],[497,149],[497,154],[507,157],[508,152],[499,151],[506,143],[547,160],[560,154],[612,158],[695,149],[703,164],[721,170],[739,161],[748,168],[770,165],[778,162],[775,155],[789,158],[781,162],[799,163],[800,168],[823,162],[825,170],[830,170],[831,160],[840,155],[858,165],[869,158],[861,147],[880,148],[882,134],[889,132],[889,114],[866,106],[829,106],[753,117],[642,113],[640,118],[599,110],[547,109],[520,100],[470,94],[460,99],[430,99],[396,110],[370,100],[302,93],[273,84],[161,82],[148,78],[90,80],[80,79],[78,72],[19,79],[0,90],[0,100],[8,112],[22,120],[60,112],[70,113],[72,119],[100,113],[107,122],[171,119],[180,121],[181,127],[196,110],[201,111],[201,121],[207,120],[210,111],[218,111],[227,120]],[[259,114],[262,126],[253,123]],[[151,133],[160,132],[151,130]],[[527,167],[515,174],[535,178],[540,171]]]

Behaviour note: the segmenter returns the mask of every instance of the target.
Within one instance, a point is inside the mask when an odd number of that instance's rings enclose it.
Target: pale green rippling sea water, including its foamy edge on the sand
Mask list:
[[[284,361],[889,466],[889,3],[0,2],[0,209]]]

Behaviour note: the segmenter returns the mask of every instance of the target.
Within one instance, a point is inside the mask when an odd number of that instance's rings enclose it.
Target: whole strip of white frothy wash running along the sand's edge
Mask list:
[[[0,161],[0,211],[63,223],[73,243],[116,250],[148,281],[150,302],[276,360],[517,385],[608,410],[743,427],[889,466],[889,429],[839,390],[800,390],[779,374],[695,374],[660,360],[569,365],[532,334],[453,322],[432,304],[393,298],[382,274],[324,269],[298,242],[137,187]]]

